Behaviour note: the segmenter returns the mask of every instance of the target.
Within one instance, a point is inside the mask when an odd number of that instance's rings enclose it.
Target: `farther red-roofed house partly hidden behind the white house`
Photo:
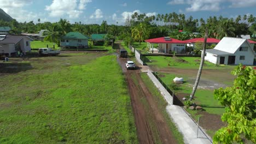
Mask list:
[[[188,39],[188,40],[183,40],[185,43],[187,43],[187,46],[195,47],[196,43],[203,43],[205,38],[195,38],[195,39]],[[207,38],[207,45],[217,45],[219,43],[219,39],[214,39],[214,38]]]

